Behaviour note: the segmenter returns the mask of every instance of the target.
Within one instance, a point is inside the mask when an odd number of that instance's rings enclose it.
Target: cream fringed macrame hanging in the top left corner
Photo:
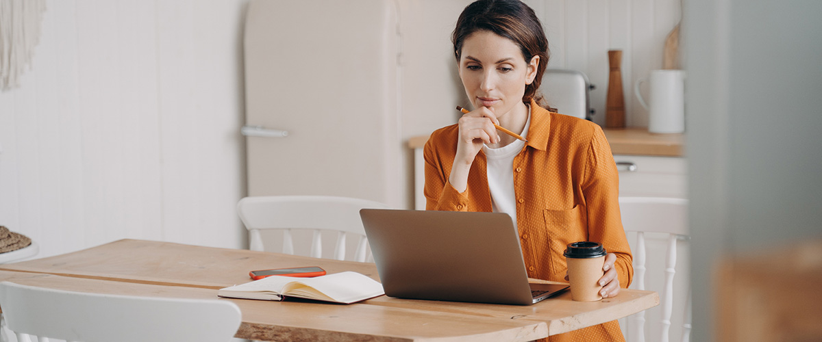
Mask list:
[[[40,39],[45,0],[0,0],[0,89],[20,86]]]

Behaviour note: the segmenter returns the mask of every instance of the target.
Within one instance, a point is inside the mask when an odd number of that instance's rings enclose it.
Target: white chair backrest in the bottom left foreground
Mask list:
[[[237,305],[225,299],[90,294],[7,281],[0,282],[0,307],[18,341],[35,335],[39,341],[225,342],[241,318]]]

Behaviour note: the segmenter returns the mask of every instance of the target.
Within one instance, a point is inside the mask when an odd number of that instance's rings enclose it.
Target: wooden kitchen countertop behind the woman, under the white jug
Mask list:
[[[606,129],[605,136],[611,144],[613,154],[632,154],[640,156],[681,157],[685,135],[659,135],[650,133],[644,127],[623,129]],[[423,148],[428,135],[411,137],[409,148]]]

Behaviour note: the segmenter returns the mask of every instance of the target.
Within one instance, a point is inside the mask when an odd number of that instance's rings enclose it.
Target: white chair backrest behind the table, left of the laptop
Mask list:
[[[359,198],[335,196],[256,196],[242,198],[237,204],[242,223],[248,229],[249,249],[263,250],[261,230],[282,230],[283,249],[278,252],[293,254],[292,230],[312,230],[311,253],[322,257],[322,230],[337,231],[334,256],[345,260],[346,237],[358,239],[353,260],[366,262],[368,243],[359,210],[387,208],[383,203]],[[268,249],[271,250],[271,249]]]

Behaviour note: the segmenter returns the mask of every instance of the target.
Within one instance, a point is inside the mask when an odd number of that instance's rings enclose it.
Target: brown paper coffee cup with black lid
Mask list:
[[[599,295],[599,290],[603,288],[599,285],[599,278],[605,274],[605,254],[607,253],[603,245],[596,242],[580,241],[568,244],[565,257],[571,299],[578,302],[603,299]]]

